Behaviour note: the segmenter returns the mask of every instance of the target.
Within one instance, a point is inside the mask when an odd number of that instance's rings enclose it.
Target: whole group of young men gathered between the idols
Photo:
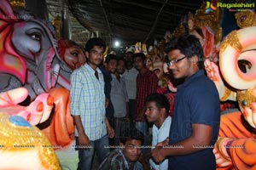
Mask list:
[[[95,153],[99,169],[215,169],[220,104],[199,39],[166,43],[167,84],[178,84],[175,92],[160,87],[143,52],[104,58],[105,49],[102,38],[91,38],[86,63],[71,75],[78,169],[91,169]]]

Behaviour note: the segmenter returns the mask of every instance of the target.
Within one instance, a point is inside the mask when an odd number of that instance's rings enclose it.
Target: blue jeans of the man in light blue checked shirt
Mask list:
[[[91,164],[93,161],[94,153],[98,157],[99,164],[105,159],[109,154],[108,135],[103,136],[101,139],[90,141],[91,148],[88,150],[79,150],[79,167],[78,170],[91,169]]]

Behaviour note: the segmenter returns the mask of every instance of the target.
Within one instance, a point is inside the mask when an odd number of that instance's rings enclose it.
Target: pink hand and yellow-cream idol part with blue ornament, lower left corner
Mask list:
[[[18,105],[27,94],[26,88],[0,94],[0,169],[61,169],[49,139],[32,126],[49,118],[53,98],[41,94],[28,106]]]

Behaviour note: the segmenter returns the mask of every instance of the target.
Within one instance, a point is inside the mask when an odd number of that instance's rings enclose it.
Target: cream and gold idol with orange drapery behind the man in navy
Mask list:
[[[232,31],[221,42],[218,65],[205,61],[220,100],[236,100],[240,111],[221,116],[214,147],[217,169],[256,169],[256,26]]]

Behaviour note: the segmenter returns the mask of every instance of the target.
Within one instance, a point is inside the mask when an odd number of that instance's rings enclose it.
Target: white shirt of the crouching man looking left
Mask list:
[[[172,117],[167,116],[166,120],[163,122],[160,128],[153,125],[152,128],[152,146],[154,146],[162,141],[164,141],[167,137],[169,137],[170,127],[172,123]],[[156,164],[152,159],[149,159],[149,164],[155,170],[166,170],[168,169],[168,159],[165,159],[160,164]]]

